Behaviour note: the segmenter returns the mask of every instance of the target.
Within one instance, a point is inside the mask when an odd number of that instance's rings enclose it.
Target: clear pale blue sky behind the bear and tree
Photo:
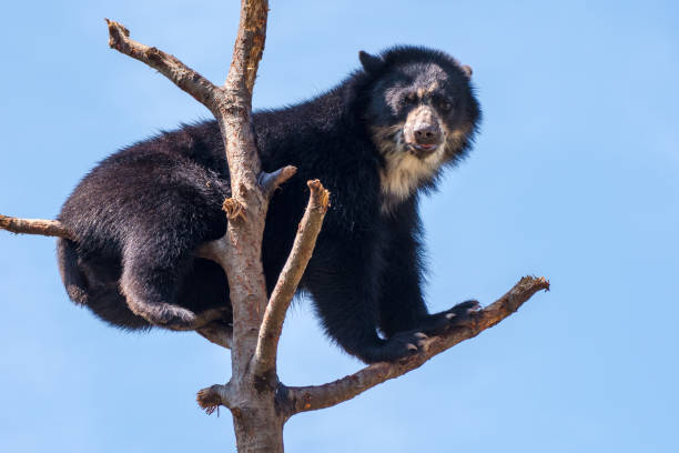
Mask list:
[[[474,68],[485,121],[422,213],[435,310],[537,294],[500,325],[340,406],[294,417],[291,452],[677,452],[679,7],[666,1],[276,1],[255,105],[295,102],[359,49],[439,48]],[[237,2],[11,2],[0,28],[0,213],[52,218],[119,147],[207,118],[107,46],[103,18],[215,82]],[[0,451],[234,451],[195,392],[229,354],[197,335],[124,334],[74,306],[50,239],[0,232]],[[302,302],[281,376],[361,364]]]

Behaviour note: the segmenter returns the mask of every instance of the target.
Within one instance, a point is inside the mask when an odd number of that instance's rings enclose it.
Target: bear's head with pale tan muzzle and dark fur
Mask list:
[[[455,162],[479,117],[470,68],[440,56],[434,56],[438,61],[426,53],[416,57],[416,61],[403,58],[399,62],[389,54],[361,53],[364,69],[376,78],[366,119],[384,161],[384,211],[432,181],[445,163]]]

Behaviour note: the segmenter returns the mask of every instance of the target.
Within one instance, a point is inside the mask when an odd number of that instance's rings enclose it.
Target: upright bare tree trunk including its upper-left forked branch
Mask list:
[[[233,306],[232,375],[226,385],[216,386],[221,389],[216,403],[232,410],[241,452],[282,452],[285,421],[276,407],[275,365],[253,363],[253,360],[260,363],[255,351],[268,302],[261,260],[266,210],[273,189],[294,174],[292,168],[262,173],[251,125],[252,90],[264,49],[267,13],[266,0],[241,2],[233,60],[223,87],[213,85],[176,58],[131,40],[124,27],[108,21],[112,48],[158,69],[205,104],[220,125],[231,175],[232,198],[224,202],[229,226],[225,236],[206,245],[202,253],[217,261],[229,278]],[[324,189],[318,184],[317,190]],[[264,372],[254,373],[254,369]],[[205,401],[214,403],[213,397],[199,393],[199,402],[204,406]]]

